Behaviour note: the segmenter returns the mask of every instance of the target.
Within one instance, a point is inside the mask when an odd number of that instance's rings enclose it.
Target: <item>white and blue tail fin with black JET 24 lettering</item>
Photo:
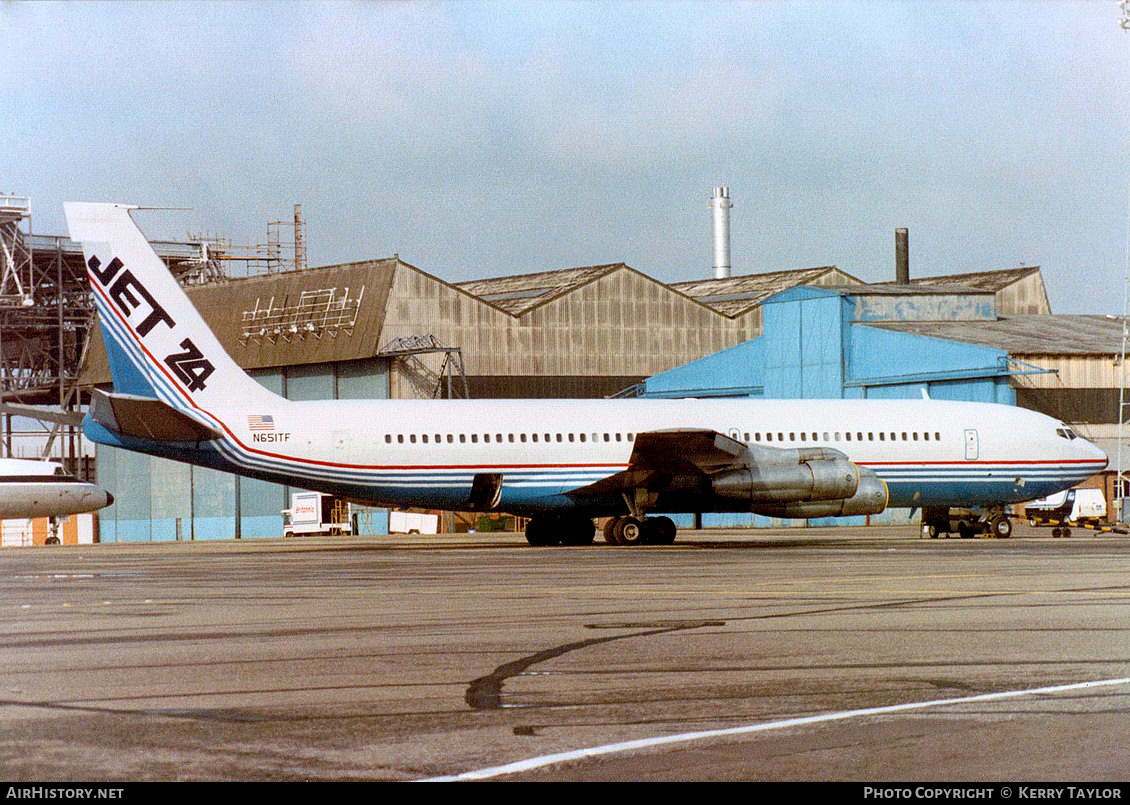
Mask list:
[[[67,202],[82,244],[114,390],[159,399],[200,422],[278,400],[227,354],[130,217],[129,205]]]

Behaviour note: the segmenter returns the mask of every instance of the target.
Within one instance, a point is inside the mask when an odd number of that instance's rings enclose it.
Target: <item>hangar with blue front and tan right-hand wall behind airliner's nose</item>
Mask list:
[[[1121,320],[1046,312],[1035,268],[951,278],[963,285],[940,279],[774,294],[760,303],[762,336],[649,378],[638,393],[846,399],[925,392],[1019,405],[1071,423],[1113,464]],[[1096,483],[1114,500],[1112,473]],[[910,514],[871,521],[905,521]],[[703,522],[765,519],[704,516]]]

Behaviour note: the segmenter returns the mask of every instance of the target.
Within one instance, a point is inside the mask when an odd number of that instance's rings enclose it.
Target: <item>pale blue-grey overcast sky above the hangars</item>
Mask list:
[[[390,257],[449,282],[626,262],[711,276],[1040,265],[1119,313],[1130,33],[1088,2],[0,2],[0,191],[151,237]]]

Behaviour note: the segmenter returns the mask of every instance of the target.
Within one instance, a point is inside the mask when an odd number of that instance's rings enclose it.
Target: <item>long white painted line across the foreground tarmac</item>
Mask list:
[[[663,735],[657,738],[638,738],[636,741],[625,741],[618,744],[606,744],[603,746],[591,746],[584,750],[572,750],[570,752],[558,752],[556,754],[530,758],[528,760],[496,765],[489,769],[477,771],[464,771],[461,774],[449,777],[433,777],[420,782],[455,782],[460,780],[487,780],[492,777],[503,774],[515,774],[521,771],[541,769],[555,763],[567,763],[585,758],[599,758],[601,755],[617,754],[619,752],[632,752],[634,750],[663,746],[666,744],[689,743],[692,741],[706,741],[710,738],[724,738],[733,735],[750,735],[754,733],[767,733],[773,729],[788,729],[789,727],[803,727],[810,724],[825,724],[827,721],[844,721],[850,718],[861,718],[864,716],[887,716],[896,712],[907,712],[910,710],[925,710],[927,708],[948,707],[950,704],[972,704],[975,702],[991,702],[1002,699],[1019,699],[1022,696],[1041,696],[1055,693],[1070,693],[1072,691],[1085,691],[1095,687],[1115,687],[1118,685],[1130,685],[1130,677],[1119,680],[1096,680],[1094,682],[1077,682],[1070,685],[1053,685],[1051,687],[1033,687],[1025,691],[1001,691],[999,693],[982,693],[975,696],[962,696],[959,699],[937,699],[925,702],[907,702],[905,704],[889,704],[887,707],[872,707],[863,710],[843,710],[841,712],[828,712],[822,716],[805,716],[802,718],[786,718],[782,721],[765,721],[751,724],[745,727],[729,727],[727,729],[704,729],[696,733],[680,733],[678,735]]]

